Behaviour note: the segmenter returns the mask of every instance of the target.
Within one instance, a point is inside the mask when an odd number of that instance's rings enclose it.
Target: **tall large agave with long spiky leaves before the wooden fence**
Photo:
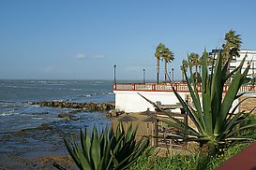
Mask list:
[[[245,123],[248,122],[248,114],[245,113],[245,111],[235,113],[238,106],[248,98],[241,100],[236,106],[233,106],[233,101],[244,94],[238,94],[238,92],[249,69],[248,65],[244,72],[242,72],[242,66],[245,63],[245,59],[246,57],[233,72],[227,74],[229,61],[227,61],[224,66],[221,66],[223,58],[222,54],[218,53],[214,69],[212,69],[211,74],[208,74],[206,51],[204,50],[202,84],[196,83],[193,77],[191,77],[190,83],[190,81],[188,81],[188,76],[185,73],[193,106],[188,105],[173,87],[173,92],[188,113],[190,120],[195,124],[196,129],[174,119],[172,115],[161,110],[156,104],[144,97],[143,98],[152,105],[158,107],[158,109],[165,114],[170,115],[171,120],[164,120],[164,122],[178,130],[178,136],[174,135],[175,137],[187,141],[196,141],[200,143],[201,146],[206,144],[209,148],[209,153],[212,155],[216,154],[218,149],[221,149],[230,142],[252,139],[251,136],[239,135],[239,132],[256,126],[256,122],[254,121]],[[191,64],[188,65],[190,75],[192,75]],[[225,86],[225,82],[232,76],[233,80],[229,85],[228,91],[224,95],[223,87]],[[200,92],[197,88],[198,85],[202,86],[202,98],[200,97]]]

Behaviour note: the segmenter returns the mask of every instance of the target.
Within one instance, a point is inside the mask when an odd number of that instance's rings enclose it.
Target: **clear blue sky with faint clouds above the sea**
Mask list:
[[[256,1],[1,0],[0,78],[156,79],[155,49],[174,53],[174,79],[189,52],[221,47],[233,29],[256,50]],[[164,78],[164,63],[160,63]]]

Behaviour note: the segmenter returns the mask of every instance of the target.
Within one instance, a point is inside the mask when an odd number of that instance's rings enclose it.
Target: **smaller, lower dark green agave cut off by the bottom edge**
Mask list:
[[[125,132],[120,122],[113,133],[112,127],[98,134],[96,126],[93,128],[92,136],[87,129],[84,133],[81,130],[81,147],[72,142],[71,145],[64,139],[68,152],[80,169],[86,170],[120,170],[127,169],[135,163],[141,156],[151,154],[153,148],[149,147],[149,139],[141,138],[135,140],[137,128],[132,129],[132,125]]]

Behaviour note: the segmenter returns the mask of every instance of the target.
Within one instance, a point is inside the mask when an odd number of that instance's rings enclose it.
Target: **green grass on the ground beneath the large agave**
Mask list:
[[[133,164],[130,170],[158,170],[158,169],[168,169],[168,170],[178,170],[178,169],[188,169],[188,170],[198,170],[198,169],[215,169],[220,164],[224,163],[233,155],[248,147],[250,142],[237,143],[227,149],[223,150],[222,154],[218,154],[214,158],[208,158],[199,153],[194,153],[190,155],[180,155],[176,154],[171,157],[161,158],[161,157],[149,157],[139,160],[137,163]]]

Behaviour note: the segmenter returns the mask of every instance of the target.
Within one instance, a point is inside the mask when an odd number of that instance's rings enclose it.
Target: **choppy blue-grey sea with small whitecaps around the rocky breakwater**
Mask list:
[[[40,101],[111,102],[113,81],[0,79],[0,164],[13,155],[67,153],[64,137],[77,135],[81,128],[111,124],[106,113],[98,111],[78,112],[71,120],[58,118],[74,109],[31,105]]]

